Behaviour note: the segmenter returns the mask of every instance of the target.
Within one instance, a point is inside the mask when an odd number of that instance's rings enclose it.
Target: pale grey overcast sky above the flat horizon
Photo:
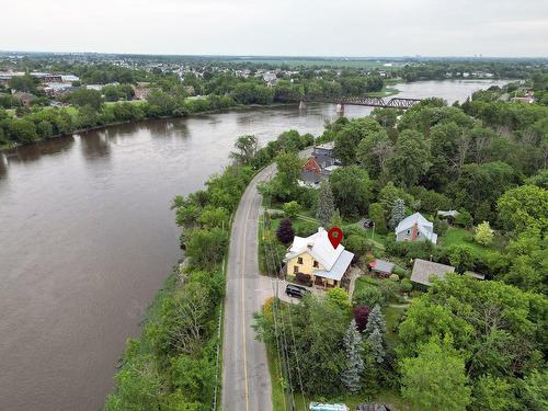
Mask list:
[[[0,0],[0,50],[548,56],[548,0]]]

